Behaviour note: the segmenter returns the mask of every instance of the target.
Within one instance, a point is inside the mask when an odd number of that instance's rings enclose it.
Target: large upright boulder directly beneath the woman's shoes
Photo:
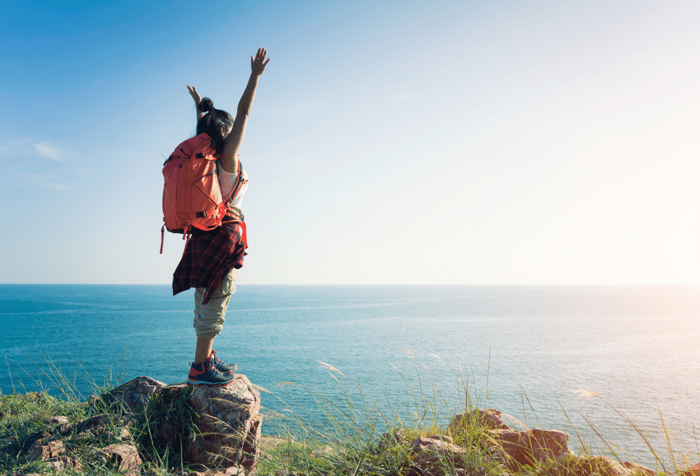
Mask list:
[[[199,414],[193,423],[200,434],[183,452],[186,461],[253,468],[260,454],[262,416],[260,392],[251,381],[236,374],[226,386],[195,388],[189,401]]]

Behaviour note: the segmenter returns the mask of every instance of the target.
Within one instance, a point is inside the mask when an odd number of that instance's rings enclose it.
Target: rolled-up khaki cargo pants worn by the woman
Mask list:
[[[195,288],[195,323],[193,324],[197,337],[200,339],[212,339],[221,333],[224,315],[231,295],[236,292],[238,273],[235,268],[223,276],[223,281],[207,304],[202,304],[207,288]]]

